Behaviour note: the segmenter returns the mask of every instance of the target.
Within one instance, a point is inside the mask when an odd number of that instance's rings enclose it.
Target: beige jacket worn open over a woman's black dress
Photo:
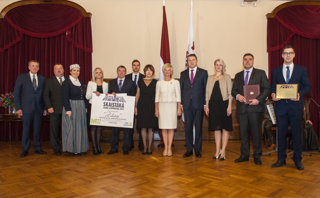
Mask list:
[[[212,89],[214,86],[214,83],[216,83],[216,79],[213,77],[213,75],[210,75],[208,77],[207,81],[207,88],[206,88],[206,94],[205,94],[205,100],[210,100],[211,94],[212,94]],[[222,95],[222,100],[228,100],[228,99],[233,99],[231,96],[231,89],[232,89],[232,82],[231,82],[231,77],[228,74],[224,74],[222,78],[219,80],[219,85],[220,85],[220,91]]]

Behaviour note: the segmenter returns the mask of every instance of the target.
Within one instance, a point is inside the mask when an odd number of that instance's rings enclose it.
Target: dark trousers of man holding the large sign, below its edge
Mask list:
[[[112,127],[112,136],[111,136],[111,151],[118,150],[119,147],[119,132],[120,127]],[[131,139],[130,139],[130,128],[123,128],[123,151],[129,151],[131,148]]]

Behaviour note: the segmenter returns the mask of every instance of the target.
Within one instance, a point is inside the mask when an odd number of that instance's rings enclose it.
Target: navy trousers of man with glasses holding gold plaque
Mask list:
[[[291,125],[293,140],[294,162],[301,162],[302,157],[302,139],[301,122],[303,118],[303,109],[292,109],[289,104],[285,104],[282,109],[275,109],[277,127],[278,127],[278,160],[284,162],[287,158],[287,132],[288,124]]]

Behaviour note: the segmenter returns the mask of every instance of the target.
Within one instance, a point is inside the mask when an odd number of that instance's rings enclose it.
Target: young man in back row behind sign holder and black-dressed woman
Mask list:
[[[133,80],[134,86],[137,87],[137,83],[139,79],[143,79],[146,76],[141,74],[139,72],[140,70],[140,62],[139,60],[133,60],[132,61],[132,73],[125,75],[126,78]],[[133,120],[134,122],[134,120]],[[133,123],[134,125],[134,123]],[[131,139],[131,148],[134,148],[134,142],[133,142],[133,128],[130,129],[130,139]],[[139,145],[138,148],[140,151],[143,151],[143,142],[142,142],[142,137],[141,137],[141,130],[139,130]]]

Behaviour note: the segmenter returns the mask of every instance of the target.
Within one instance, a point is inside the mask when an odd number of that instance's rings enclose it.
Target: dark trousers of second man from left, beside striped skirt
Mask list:
[[[54,151],[60,151],[59,129],[61,127],[62,114],[50,114],[50,141]]]

